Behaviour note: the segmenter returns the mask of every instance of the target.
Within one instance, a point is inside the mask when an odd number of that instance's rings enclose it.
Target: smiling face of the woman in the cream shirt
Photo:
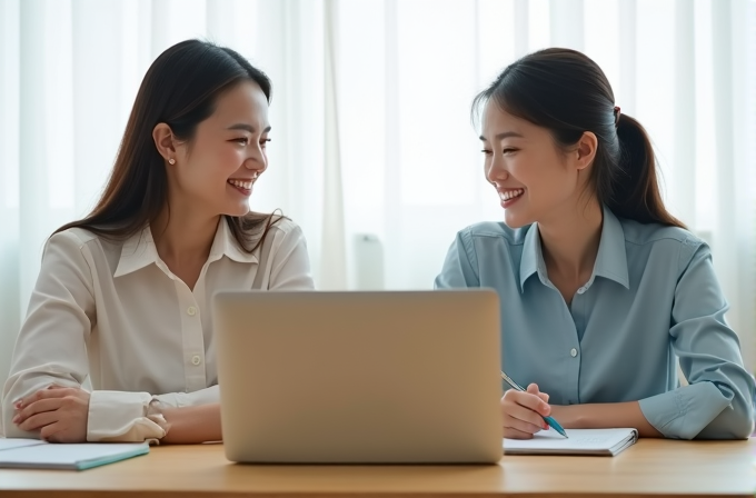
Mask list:
[[[269,131],[268,100],[257,83],[226,90],[191,141],[175,143],[176,162],[168,166],[173,195],[208,215],[247,215],[252,186],[268,166]]]

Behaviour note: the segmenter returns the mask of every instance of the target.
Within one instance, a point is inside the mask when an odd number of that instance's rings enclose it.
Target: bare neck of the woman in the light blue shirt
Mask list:
[[[594,271],[601,239],[604,210],[591,198],[588,205],[559,210],[550,219],[538,222],[544,262],[550,275],[585,283]],[[587,277],[586,277],[587,276]]]

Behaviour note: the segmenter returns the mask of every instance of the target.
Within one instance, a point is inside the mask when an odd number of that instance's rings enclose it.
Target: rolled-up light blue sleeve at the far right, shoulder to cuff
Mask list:
[[[640,400],[650,425],[668,438],[745,439],[754,429],[754,378],[727,326],[723,296],[706,245],[687,242],[669,330],[689,382]]]

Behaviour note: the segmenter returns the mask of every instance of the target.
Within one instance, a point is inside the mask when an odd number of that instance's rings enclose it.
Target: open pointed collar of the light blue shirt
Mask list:
[[[525,235],[523,243],[523,258],[520,259],[520,292],[525,289],[525,281],[533,273],[538,273],[541,282],[548,280],[544,253],[540,248],[540,233],[538,223],[530,226]],[[625,231],[617,217],[609,208],[604,207],[604,221],[601,225],[601,238],[598,242],[598,253],[594,272],[588,286],[593,285],[596,277],[614,280],[625,288],[630,288],[627,275],[627,251],[625,250]]]

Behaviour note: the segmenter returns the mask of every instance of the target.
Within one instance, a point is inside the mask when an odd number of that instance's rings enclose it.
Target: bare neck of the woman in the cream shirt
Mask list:
[[[200,215],[187,203],[169,202],[152,220],[152,239],[163,261],[205,261],[218,230],[218,215]]]

